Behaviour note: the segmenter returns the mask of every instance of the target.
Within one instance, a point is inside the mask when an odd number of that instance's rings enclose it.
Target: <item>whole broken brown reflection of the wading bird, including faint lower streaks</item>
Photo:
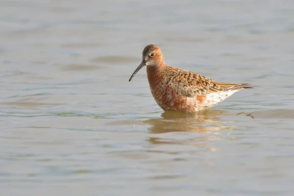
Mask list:
[[[152,125],[149,130],[152,134],[168,133],[168,132],[196,132],[206,133],[205,135],[197,135],[196,137],[188,138],[169,138],[167,135],[160,135],[160,137],[150,137],[149,142],[152,145],[183,145],[193,146],[189,154],[196,154],[203,151],[218,151],[216,147],[208,147],[207,142],[217,141],[223,139],[218,130],[227,130],[233,128],[228,125],[221,125],[227,123],[222,121],[219,116],[229,116],[227,111],[223,110],[203,110],[196,113],[181,113],[181,112],[164,112],[162,119],[149,119],[144,121]],[[159,135],[158,135],[159,136]],[[154,149],[151,150],[154,152]],[[185,149],[186,151],[186,149]],[[180,148],[176,151],[159,150],[160,153],[181,153]],[[186,151],[187,152],[187,151]]]

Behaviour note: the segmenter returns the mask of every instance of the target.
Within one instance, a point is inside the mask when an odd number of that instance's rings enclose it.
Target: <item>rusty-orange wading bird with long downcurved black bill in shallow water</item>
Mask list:
[[[142,52],[142,62],[129,78],[147,67],[150,91],[156,103],[164,111],[198,112],[217,105],[242,89],[247,83],[223,83],[198,73],[189,72],[165,63],[161,49],[150,44]]]

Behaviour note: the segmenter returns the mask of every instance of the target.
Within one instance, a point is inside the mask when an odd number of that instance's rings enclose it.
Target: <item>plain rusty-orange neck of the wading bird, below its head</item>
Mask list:
[[[147,77],[151,88],[165,79],[164,72],[166,67],[167,65],[164,62],[157,66],[147,66]]]

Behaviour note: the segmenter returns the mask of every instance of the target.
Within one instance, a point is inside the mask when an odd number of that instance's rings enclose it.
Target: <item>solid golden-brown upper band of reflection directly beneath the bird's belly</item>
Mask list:
[[[144,121],[152,125],[149,128],[151,133],[167,133],[174,131],[184,132],[209,132],[220,129],[230,129],[227,125],[216,125],[225,123],[218,116],[229,116],[223,110],[203,110],[195,113],[164,112],[163,119],[149,119]]]

